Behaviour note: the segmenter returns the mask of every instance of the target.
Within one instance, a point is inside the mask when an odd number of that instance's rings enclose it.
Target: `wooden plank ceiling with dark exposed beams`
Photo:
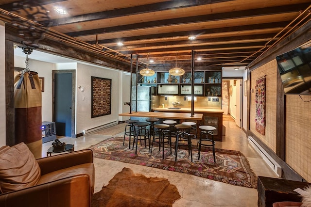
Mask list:
[[[4,10],[27,18],[15,10],[13,2],[0,1],[2,19],[8,16]],[[169,69],[176,63],[190,68],[192,50],[196,65],[246,66],[311,19],[311,0],[37,2],[50,11],[50,34],[65,34],[127,63],[131,55],[138,54],[139,65],[149,64],[155,70]],[[68,14],[58,14],[57,7]],[[190,35],[196,39],[189,40]],[[118,46],[118,42],[123,45]]]

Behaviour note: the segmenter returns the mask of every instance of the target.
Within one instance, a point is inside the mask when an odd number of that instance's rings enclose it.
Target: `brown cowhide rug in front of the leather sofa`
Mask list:
[[[180,198],[165,178],[146,177],[123,168],[92,196],[91,207],[172,207]]]

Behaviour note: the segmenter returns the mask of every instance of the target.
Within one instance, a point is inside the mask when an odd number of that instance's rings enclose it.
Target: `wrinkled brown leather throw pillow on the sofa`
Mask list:
[[[0,191],[16,191],[34,186],[41,170],[35,156],[25,143],[0,152]]]

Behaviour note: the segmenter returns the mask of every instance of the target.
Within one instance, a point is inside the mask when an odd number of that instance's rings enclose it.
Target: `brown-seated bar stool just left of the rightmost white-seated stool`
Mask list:
[[[176,144],[175,144],[175,161],[177,161],[178,142],[180,141],[179,139],[184,139],[187,140],[188,142],[188,153],[191,155],[191,162],[192,162],[192,147],[190,139],[191,125],[178,124],[175,125],[175,128],[177,129]]]

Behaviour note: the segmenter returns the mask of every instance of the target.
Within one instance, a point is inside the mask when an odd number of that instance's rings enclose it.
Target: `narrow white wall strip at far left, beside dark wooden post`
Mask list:
[[[0,146],[5,145],[5,28],[4,23],[0,21]],[[12,74],[13,76],[13,74]]]

